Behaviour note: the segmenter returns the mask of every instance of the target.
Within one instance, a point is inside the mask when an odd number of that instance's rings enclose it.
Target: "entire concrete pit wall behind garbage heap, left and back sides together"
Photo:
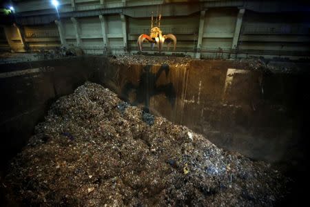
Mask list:
[[[220,60],[124,65],[104,57],[1,66],[1,72],[6,72],[0,79],[5,109],[0,123],[1,159],[7,161],[21,149],[50,103],[83,82],[94,81],[134,105],[192,128],[222,148],[253,159],[298,164],[304,153],[300,133],[309,97],[303,93],[307,77],[247,67]],[[17,70],[23,74],[17,75]]]

